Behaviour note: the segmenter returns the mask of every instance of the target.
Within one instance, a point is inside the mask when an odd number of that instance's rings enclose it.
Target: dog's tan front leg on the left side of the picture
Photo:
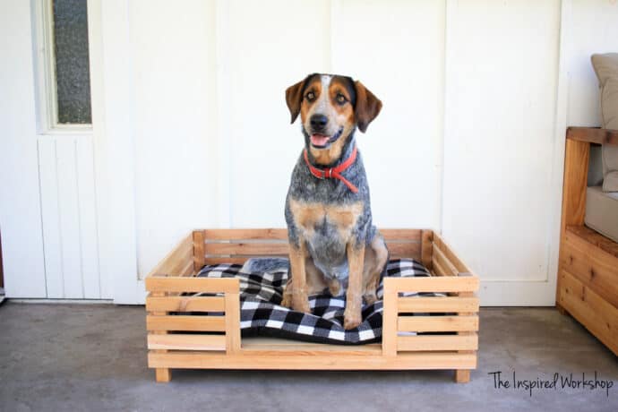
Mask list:
[[[283,303],[281,305],[291,306],[295,311],[311,313],[309,297],[307,296],[305,255],[305,242],[301,240],[300,246],[290,243],[289,265],[291,281],[288,281],[288,285],[283,292]]]

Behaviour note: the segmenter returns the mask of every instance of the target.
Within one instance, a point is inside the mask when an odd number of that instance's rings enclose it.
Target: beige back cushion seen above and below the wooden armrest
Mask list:
[[[592,65],[601,88],[601,116],[605,129],[618,130],[618,53],[593,55]],[[618,192],[618,182],[607,175],[618,171],[618,146],[603,145],[603,190]]]

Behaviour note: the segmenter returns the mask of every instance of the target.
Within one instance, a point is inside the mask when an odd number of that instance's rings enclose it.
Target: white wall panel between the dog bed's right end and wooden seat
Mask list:
[[[502,305],[547,305],[560,2],[449,2],[448,33],[444,236]]]

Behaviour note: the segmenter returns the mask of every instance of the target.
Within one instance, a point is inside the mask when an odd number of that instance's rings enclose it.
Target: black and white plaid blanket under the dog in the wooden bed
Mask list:
[[[269,262],[270,261],[270,262]],[[205,266],[197,276],[240,279],[240,328],[243,336],[274,336],[319,343],[364,344],[382,337],[382,300],[363,306],[363,322],[353,330],[343,329],[345,296],[330,296],[328,289],[309,296],[312,313],[302,313],[279,305],[288,282],[288,260],[250,260],[244,266],[219,264]],[[270,270],[262,270],[268,269]],[[272,270],[275,268],[274,270]],[[395,259],[388,263],[386,276],[431,276],[416,261]],[[437,296],[433,293],[409,293],[406,296]],[[382,299],[382,281],[377,290]]]

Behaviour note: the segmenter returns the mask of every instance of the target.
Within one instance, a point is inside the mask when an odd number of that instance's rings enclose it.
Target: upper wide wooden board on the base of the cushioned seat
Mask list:
[[[618,258],[571,231],[562,240],[560,267],[618,307]]]

